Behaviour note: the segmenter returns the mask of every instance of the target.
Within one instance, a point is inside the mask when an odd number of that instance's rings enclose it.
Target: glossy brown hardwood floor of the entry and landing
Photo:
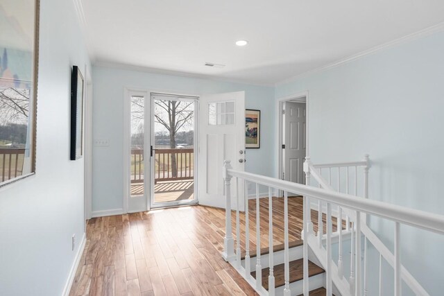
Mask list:
[[[268,199],[260,203],[261,247],[267,247]],[[253,251],[255,200],[249,201],[248,208]],[[273,198],[273,214],[283,217],[282,198]],[[316,211],[311,214],[317,217]],[[235,212],[232,218],[234,225]],[[240,240],[245,246],[245,214],[240,218]],[[289,227],[290,241],[298,241],[302,198],[289,198]],[[282,244],[283,220],[275,218],[273,229],[273,245]],[[87,243],[69,295],[257,295],[222,259],[223,236],[225,211],[211,207],[92,218],[87,223]]]

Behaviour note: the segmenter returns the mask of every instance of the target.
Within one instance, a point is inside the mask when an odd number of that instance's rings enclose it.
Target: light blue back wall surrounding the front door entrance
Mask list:
[[[94,67],[93,138],[110,139],[93,149],[92,211],[122,208],[123,89],[134,87],[182,94],[245,91],[246,108],[261,110],[261,148],[248,149],[246,171],[273,176],[274,88],[142,71]]]

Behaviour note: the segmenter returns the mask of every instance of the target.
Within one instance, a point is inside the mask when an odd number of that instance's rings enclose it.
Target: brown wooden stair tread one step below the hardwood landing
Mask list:
[[[294,281],[300,281],[304,278],[304,269],[303,269],[304,259],[298,259],[294,261],[290,261],[290,283]],[[275,265],[273,268],[273,273],[275,275],[275,287],[284,286],[284,263]],[[268,275],[270,269],[264,268],[262,269],[262,286],[268,290]],[[325,272],[323,268],[319,267],[315,263],[308,261],[308,275],[309,277],[313,277],[314,275],[319,275]],[[251,275],[256,278],[256,272],[251,272]]]

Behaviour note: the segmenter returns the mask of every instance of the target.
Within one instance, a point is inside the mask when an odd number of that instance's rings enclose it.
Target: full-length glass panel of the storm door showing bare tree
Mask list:
[[[196,99],[152,94],[151,207],[188,204],[194,191]]]

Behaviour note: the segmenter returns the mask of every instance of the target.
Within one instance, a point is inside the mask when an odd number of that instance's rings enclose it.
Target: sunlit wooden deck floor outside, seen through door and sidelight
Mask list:
[[[131,184],[131,195],[142,195],[144,193],[143,183]],[[172,202],[177,200],[194,199],[194,181],[163,181],[154,185],[154,202]]]

